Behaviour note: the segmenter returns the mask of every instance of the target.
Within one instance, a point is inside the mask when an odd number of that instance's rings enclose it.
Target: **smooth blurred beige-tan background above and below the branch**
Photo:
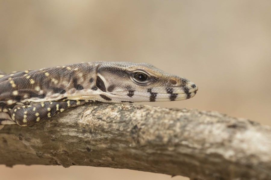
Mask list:
[[[148,62],[199,86],[189,100],[271,125],[271,1],[0,0],[0,69]],[[180,167],[182,168],[182,167]],[[97,167],[0,165],[1,179],[188,178]]]

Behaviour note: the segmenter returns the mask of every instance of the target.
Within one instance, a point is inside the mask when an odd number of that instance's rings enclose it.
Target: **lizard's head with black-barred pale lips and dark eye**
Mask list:
[[[188,79],[166,73],[151,64],[103,62],[97,68],[101,101],[179,101],[195,96],[198,86]]]

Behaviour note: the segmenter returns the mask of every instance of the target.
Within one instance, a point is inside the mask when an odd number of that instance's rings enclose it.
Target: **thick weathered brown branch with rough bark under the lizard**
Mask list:
[[[0,164],[125,168],[191,179],[271,179],[271,128],[217,112],[143,105],[71,108],[0,131]]]

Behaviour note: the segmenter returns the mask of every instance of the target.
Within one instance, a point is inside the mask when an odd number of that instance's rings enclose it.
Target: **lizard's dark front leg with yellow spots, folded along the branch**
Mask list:
[[[62,113],[70,107],[76,107],[88,103],[88,100],[59,100],[46,101],[31,105],[16,105],[9,109],[11,118],[20,126],[35,125],[51,118],[57,113]]]

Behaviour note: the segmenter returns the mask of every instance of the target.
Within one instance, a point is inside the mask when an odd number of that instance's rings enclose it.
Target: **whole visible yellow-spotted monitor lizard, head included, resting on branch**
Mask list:
[[[35,125],[94,101],[185,100],[197,90],[193,82],[147,63],[97,61],[10,74],[0,71],[0,125]]]

